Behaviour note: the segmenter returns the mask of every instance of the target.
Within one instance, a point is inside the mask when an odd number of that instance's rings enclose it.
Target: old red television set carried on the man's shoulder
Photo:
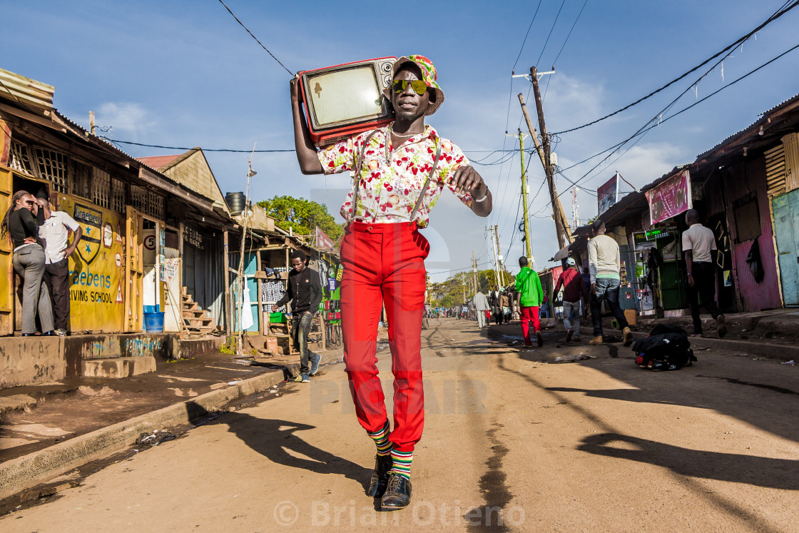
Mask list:
[[[299,73],[300,97],[316,146],[332,145],[394,120],[394,109],[383,97],[383,89],[392,84],[396,60],[368,59]]]

